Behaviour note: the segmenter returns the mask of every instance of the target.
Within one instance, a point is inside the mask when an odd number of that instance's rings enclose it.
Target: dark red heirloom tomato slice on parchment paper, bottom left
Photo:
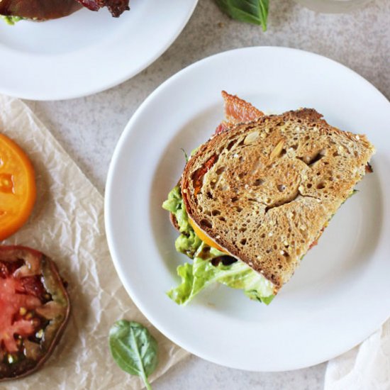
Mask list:
[[[55,263],[37,250],[0,246],[0,381],[24,377],[48,359],[69,318]]]

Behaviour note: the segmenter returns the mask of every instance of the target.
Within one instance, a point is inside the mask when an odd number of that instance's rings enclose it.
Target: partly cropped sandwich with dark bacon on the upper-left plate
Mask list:
[[[99,11],[107,7],[112,16],[121,16],[127,11],[129,0],[2,0],[0,17],[6,23],[14,24],[22,19],[47,21],[68,16],[82,7]]]

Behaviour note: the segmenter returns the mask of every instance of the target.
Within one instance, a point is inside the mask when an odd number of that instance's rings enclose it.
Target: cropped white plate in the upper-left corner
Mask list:
[[[52,21],[0,19],[0,93],[71,99],[114,87],[145,69],[177,38],[197,0],[130,0],[112,18],[82,9]]]

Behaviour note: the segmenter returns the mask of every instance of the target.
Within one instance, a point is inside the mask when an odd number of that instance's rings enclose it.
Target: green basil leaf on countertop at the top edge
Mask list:
[[[269,0],[216,0],[219,8],[230,18],[253,23],[267,30]]]

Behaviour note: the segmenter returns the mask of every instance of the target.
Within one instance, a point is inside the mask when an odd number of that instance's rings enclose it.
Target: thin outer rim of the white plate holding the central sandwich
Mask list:
[[[113,155],[111,157],[111,162],[110,162],[110,165],[108,168],[108,174],[107,174],[107,179],[106,179],[106,191],[105,191],[105,199],[104,199],[104,216],[105,216],[104,220],[105,220],[105,228],[106,228],[106,238],[107,238],[108,247],[109,247],[109,250],[111,253],[111,259],[112,259],[113,264],[116,268],[116,272],[118,274],[118,277],[121,279],[121,282],[122,282],[123,286],[125,287],[128,295],[130,296],[130,299],[133,300],[135,305],[140,309],[140,311],[147,318],[147,320],[150,321],[150,323],[152,323],[152,325],[155,326],[155,328],[157,328],[157,330],[159,330],[163,335],[165,335],[167,338],[169,338],[169,340],[172,340],[177,345],[183,347],[184,349],[188,350],[192,354],[194,354],[198,357],[201,357],[204,360],[207,360],[209,362],[213,362],[216,364],[220,364],[220,365],[223,365],[225,367],[230,367],[233,369],[241,369],[243,371],[283,372],[283,371],[288,371],[288,370],[312,367],[313,365],[320,364],[322,362],[326,362],[326,361],[332,359],[333,357],[337,357],[337,356],[341,355],[342,353],[347,352],[347,350],[345,350],[345,347],[340,347],[338,350],[335,349],[334,353],[329,354],[326,357],[321,356],[318,358],[318,360],[311,362],[311,364],[304,364],[304,365],[292,364],[292,365],[289,365],[288,367],[281,367],[281,368],[277,368],[277,369],[267,369],[267,370],[262,370],[262,369],[255,369],[254,370],[254,369],[248,369],[247,367],[240,365],[240,364],[221,363],[221,361],[213,359],[213,357],[211,357],[210,355],[203,354],[199,349],[197,349],[195,351],[193,347],[189,346],[186,342],[183,342],[182,339],[178,340],[178,338],[176,338],[174,333],[171,332],[168,328],[166,328],[165,326],[162,326],[159,323],[159,321],[157,320],[157,318],[155,318],[155,316],[152,314],[152,312],[148,311],[145,308],[145,306],[142,303],[142,300],[138,299],[138,296],[136,296],[136,294],[133,294],[133,289],[131,288],[130,284],[126,281],[124,274],[121,272],[121,264],[120,264],[121,262],[118,260],[116,248],[113,245],[113,237],[111,235],[112,230],[111,230],[111,213],[110,213],[110,207],[111,207],[110,200],[111,200],[111,194],[112,194],[111,189],[113,188],[113,186],[112,186],[113,175],[114,175],[115,165],[118,161],[118,158],[121,155],[121,149],[123,147],[123,144],[126,142],[126,138],[128,138],[128,136],[130,136],[130,134],[132,134],[133,131],[135,131],[134,130],[135,128],[133,127],[133,123],[135,123],[138,120],[138,116],[143,115],[143,109],[149,104],[149,101],[154,99],[155,95],[159,94],[160,90],[164,89],[167,84],[169,84],[170,82],[173,82],[176,78],[181,77],[182,74],[184,74],[186,72],[191,72],[191,69],[193,69],[194,67],[201,66],[204,64],[204,62],[211,61],[214,57],[218,57],[221,55],[228,55],[230,53],[240,52],[242,50],[243,51],[245,51],[245,50],[280,50],[280,51],[300,52],[301,55],[306,55],[306,56],[311,56],[311,57],[320,57],[321,60],[327,60],[329,62],[332,62],[333,65],[337,65],[338,67],[342,67],[345,71],[350,72],[350,74],[352,74],[354,77],[357,77],[357,79],[359,79],[360,82],[363,82],[365,84],[365,87],[372,89],[372,91],[374,91],[374,93],[378,94],[378,96],[380,96],[381,99],[384,99],[384,101],[386,101],[386,104],[390,104],[389,100],[386,98],[386,96],[384,96],[384,94],[381,93],[381,91],[379,91],[379,89],[374,87],[374,85],[372,83],[370,83],[367,79],[364,79],[364,77],[362,77],[360,74],[358,74],[354,70],[341,64],[340,62],[337,62],[335,60],[330,59],[329,57],[326,57],[324,55],[319,55],[319,54],[314,53],[314,52],[308,52],[306,50],[301,50],[301,49],[296,49],[296,48],[285,48],[282,46],[250,46],[250,47],[245,47],[245,48],[236,48],[233,50],[225,50],[223,52],[218,52],[214,55],[210,55],[210,56],[205,57],[201,60],[198,60],[198,61],[194,62],[193,64],[188,65],[184,69],[181,69],[179,72],[173,74],[171,77],[169,77],[167,80],[165,80],[165,82],[160,84],[160,86],[158,86],[154,91],[152,91],[147,96],[147,98],[143,101],[143,103],[140,104],[138,109],[135,111],[133,116],[130,118],[130,120],[126,124],[126,127],[123,130],[123,133],[121,134],[121,137],[118,139],[118,143],[116,144],[115,150],[114,150]],[[389,316],[386,316],[386,318],[383,319],[383,321],[381,322],[380,325],[382,325],[388,318],[389,318]],[[352,349],[356,345],[359,345],[362,341],[366,340],[369,337],[369,335],[371,335],[375,331],[376,330],[374,330],[374,331],[370,330],[369,332],[365,333],[365,337],[362,338],[362,340],[360,340],[359,342],[355,343],[354,345],[350,345],[348,350]]]

